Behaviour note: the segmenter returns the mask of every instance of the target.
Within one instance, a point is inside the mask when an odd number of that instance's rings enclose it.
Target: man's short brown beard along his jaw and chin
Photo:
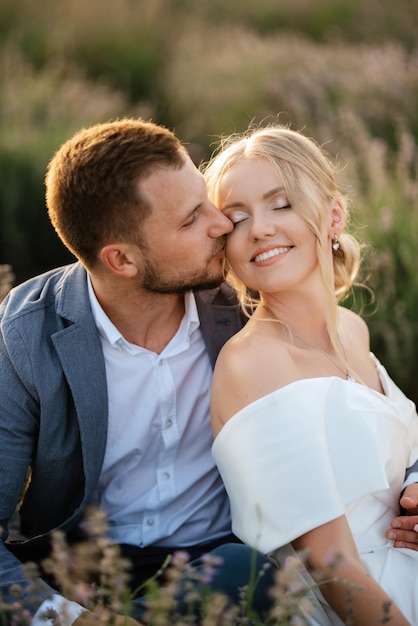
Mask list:
[[[222,271],[215,274],[208,270],[204,272],[189,272],[187,275],[166,278],[160,268],[156,267],[152,261],[147,260],[144,267],[142,287],[150,293],[184,295],[188,291],[214,289],[219,287],[223,280]]]

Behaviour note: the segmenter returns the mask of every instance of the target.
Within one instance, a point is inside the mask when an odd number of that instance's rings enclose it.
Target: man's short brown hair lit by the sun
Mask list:
[[[51,159],[46,203],[59,237],[86,267],[112,241],[141,242],[150,207],[138,182],[159,167],[180,168],[186,149],[167,128],[141,119],[77,132]]]

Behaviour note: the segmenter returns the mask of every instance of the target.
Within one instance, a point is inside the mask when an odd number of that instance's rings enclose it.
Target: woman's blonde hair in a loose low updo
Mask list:
[[[327,262],[329,251],[324,249],[320,238],[321,225],[326,217],[325,211],[331,212],[335,201],[341,203],[347,218],[347,202],[338,189],[331,159],[312,139],[285,126],[268,126],[232,135],[221,140],[219,150],[204,167],[209,197],[215,205],[219,206],[223,176],[244,158],[267,159],[276,169],[290,205],[317,238],[318,262],[330,300],[335,303],[343,299],[358,274],[360,245],[348,233],[339,235],[340,246],[333,251],[332,278]],[[316,194],[312,194],[312,187]],[[236,288],[244,310],[253,308],[259,300],[254,299],[254,294],[237,278],[228,261],[225,272],[228,282]],[[332,284],[333,288],[330,288]]]

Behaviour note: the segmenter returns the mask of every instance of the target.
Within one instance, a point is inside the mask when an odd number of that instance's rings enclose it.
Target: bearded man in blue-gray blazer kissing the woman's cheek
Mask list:
[[[28,540],[0,544],[3,599],[17,583],[32,613],[52,606],[63,623],[90,621],[46,583],[32,597],[20,561],[40,562],[54,529],[77,536],[91,503],[132,562],[133,588],[177,549],[193,559],[215,550],[224,565],[213,587],[234,597],[251,555],[230,543],[209,426],[212,367],[243,324],[220,287],[232,224],[176,137],[140,120],[77,133],[51,160],[46,187],[52,224],[78,262],[24,283],[2,305],[4,542],[31,468],[20,506]]]

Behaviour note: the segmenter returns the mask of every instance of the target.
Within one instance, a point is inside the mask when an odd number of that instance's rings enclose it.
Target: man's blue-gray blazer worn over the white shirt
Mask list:
[[[228,285],[196,293],[212,363],[243,325]],[[97,485],[106,445],[107,390],[99,335],[80,263],[52,270],[13,289],[0,309],[0,590],[11,599],[27,581],[16,558],[43,555],[53,529],[76,528]],[[20,506],[29,541],[10,544],[7,524],[28,467]],[[7,547],[6,547],[7,546]],[[13,553],[12,553],[13,551]],[[36,609],[49,594],[45,588]]]

